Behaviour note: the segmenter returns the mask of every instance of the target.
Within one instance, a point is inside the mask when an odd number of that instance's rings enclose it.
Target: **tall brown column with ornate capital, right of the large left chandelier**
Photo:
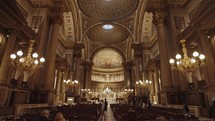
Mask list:
[[[54,80],[55,80],[55,59],[57,51],[57,43],[59,37],[60,26],[63,23],[62,9],[59,7],[53,7],[50,10],[50,24],[52,25],[51,35],[49,40],[49,48],[46,53],[46,72],[44,79],[44,89],[48,92],[48,104],[54,104]]]

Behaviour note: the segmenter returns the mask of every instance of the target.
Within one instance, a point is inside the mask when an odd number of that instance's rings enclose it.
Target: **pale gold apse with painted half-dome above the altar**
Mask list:
[[[92,80],[97,82],[119,82],[124,80],[123,59],[111,48],[98,51],[93,58]]]

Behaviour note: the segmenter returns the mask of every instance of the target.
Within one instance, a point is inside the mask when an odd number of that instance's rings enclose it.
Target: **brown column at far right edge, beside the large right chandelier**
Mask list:
[[[208,99],[209,102],[212,102],[212,99],[215,99],[215,60],[213,58],[213,50],[212,50],[212,45],[210,43],[210,40],[207,38],[207,33],[205,31],[199,31],[199,36],[200,36],[200,43],[203,48],[203,54],[205,54],[205,63],[206,63],[206,76],[207,79],[206,85],[208,88]]]

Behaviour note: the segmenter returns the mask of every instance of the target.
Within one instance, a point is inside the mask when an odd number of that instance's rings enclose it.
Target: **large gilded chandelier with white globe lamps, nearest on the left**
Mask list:
[[[42,67],[45,62],[45,58],[41,57],[39,59],[36,52],[32,54],[34,42],[34,40],[30,40],[27,56],[23,57],[23,52],[21,50],[17,51],[16,54],[10,55],[11,63],[15,68],[33,72],[34,70]]]

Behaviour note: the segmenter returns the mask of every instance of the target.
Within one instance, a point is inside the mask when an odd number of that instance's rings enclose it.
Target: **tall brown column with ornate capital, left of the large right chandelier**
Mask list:
[[[168,16],[166,11],[156,11],[153,14],[153,23],[156,25],[158,33],[158,45],[160,51],[160,73],[162,81],[161,104],[168,104],[167,92],[173,91],[171,70],[169,64],[168,37],[166,33],[166,23]]]

